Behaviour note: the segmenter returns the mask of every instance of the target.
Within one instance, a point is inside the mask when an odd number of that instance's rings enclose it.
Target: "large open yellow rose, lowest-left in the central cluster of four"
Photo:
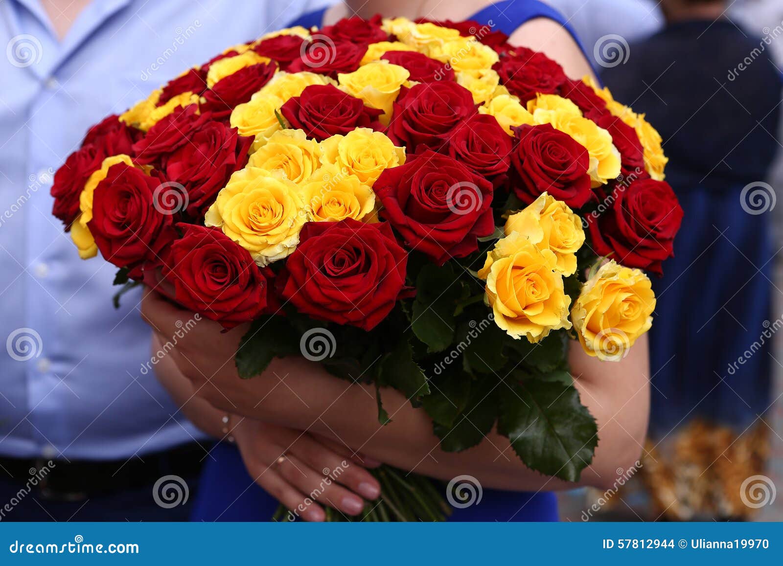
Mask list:
[[[299,189],[279,171],[236,171],[207,210],[204,225],[217,226],[251,253],[258,265],[287,257],[307,222]]]

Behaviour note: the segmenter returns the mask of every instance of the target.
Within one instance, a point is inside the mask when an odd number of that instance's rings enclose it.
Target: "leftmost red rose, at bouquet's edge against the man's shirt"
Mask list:
[[[94,171],[97,171],[105,157],[103,151],[88,144],[81,150],[71,153],[65,163],[54,174],[50,193],[54,197],[52,215],[65,225],[65,231],[79,215],[79,196],[85,182]]]

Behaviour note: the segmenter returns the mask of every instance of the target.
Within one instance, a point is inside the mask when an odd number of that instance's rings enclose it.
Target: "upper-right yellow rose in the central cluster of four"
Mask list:
[[[321,150],[323,164],[334,164],[367,186],[373,186],[384,169],[405,163],[405,148],[395,146],[386,135],[370,128],[332,135],[321,142]]]

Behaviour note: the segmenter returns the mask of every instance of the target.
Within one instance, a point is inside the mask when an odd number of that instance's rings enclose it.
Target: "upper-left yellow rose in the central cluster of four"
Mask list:
[[[247,165],[266,171],[280,171],[297,185],[310,178],[319,168],[321,147],[307,139],[302,130],[275,132],[250,156]]]

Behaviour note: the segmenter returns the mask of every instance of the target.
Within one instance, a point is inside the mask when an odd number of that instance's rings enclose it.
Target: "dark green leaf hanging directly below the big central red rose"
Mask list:
[[[429,351],[443,351],[454,340],[454,311],[462,294],[453,265],[424,265],[416,279],[411,328]]]

